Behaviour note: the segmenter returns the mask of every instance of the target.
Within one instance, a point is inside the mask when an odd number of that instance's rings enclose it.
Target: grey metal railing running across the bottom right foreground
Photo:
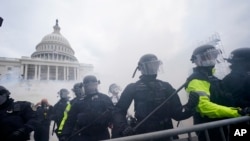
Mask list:
[[[174,140],[173,136],[182,135],[182,134],[187,134],[188,135],[188,138],[187,138],[188,141],[196,141],[197,139],[194,139],[191,136],[191,133],[196,132],[196,131],[205,131],[207,141],[210,141],[207,131],[208,131],[208,129],[215,128],[215,127],[220,127],[221,134],[222,134],[222,137],[223,137],[222,141],[225,141],[226,137],[225,137],[225,135],[224,135],[224,133],[222,131],[222,126],[235,124],[235,123],[246,122],[246,121],[250,121],[249,116],[243,116],[243,117],[238,117],[238,118],[230,118],[230,119],[225,119],[225,120],[208,122],[208,123],[204,123],[204,124],[197,124],[197,125],[193,125],[193,126],[190,126],[190,127],[179,127],[179,128],[163,130],[163,131],[158,131],[158,132],[151,132],[151,133],[146,133],[146,134],[127,136],[127,137],[115,138],[115,139],[109,139],[109,140],[105,140],[105,141],[145,141],[145,140],[161,139],[161,138],[164,138],[164,137],[170,137],[170,140],[173,141]]]

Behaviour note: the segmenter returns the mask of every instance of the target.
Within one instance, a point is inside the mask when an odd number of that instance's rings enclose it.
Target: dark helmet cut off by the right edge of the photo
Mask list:
[[[250,47],[233,50],[226,60],[231,63],[230,68],[232,70],[242,69],[250,71]]]

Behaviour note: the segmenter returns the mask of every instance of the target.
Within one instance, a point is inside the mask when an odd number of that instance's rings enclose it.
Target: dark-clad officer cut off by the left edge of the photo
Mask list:
[[[32,104],[10,98],[10,92],[0,86],[0,133],[1,141],[27,141],[37,126]]]

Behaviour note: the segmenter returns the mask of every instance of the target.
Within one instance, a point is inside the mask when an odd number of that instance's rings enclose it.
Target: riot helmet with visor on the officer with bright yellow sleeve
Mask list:
[[[191,61],[200,67],[214,67],[219,54],[221,51],[213,45],[202,45],[193,51]]]

